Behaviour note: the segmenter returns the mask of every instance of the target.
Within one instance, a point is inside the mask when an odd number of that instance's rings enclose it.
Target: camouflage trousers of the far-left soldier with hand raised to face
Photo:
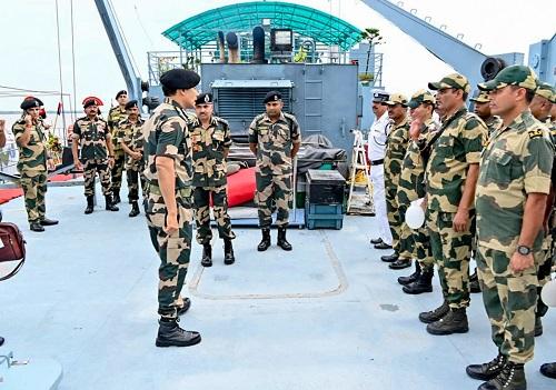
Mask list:
[[[47,193],[47,171],[21,171],[19,180],[26,198],[27,219],[29,223],[44,219],[44,194]]]

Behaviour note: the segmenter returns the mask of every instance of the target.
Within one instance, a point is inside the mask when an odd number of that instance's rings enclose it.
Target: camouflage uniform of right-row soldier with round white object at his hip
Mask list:
[[[407,147],[407,152],[401,163],[401,174],[398,183],[398,203],[407,206],[413,201],[425,198],[425,166],[420,156],[419,144],[426,142],[431,133],[438,130],[438,126],[433,119],[423,123],[419,140],[411,140]],[[419,262],[424,271],[433,269],[435,259],[430,248],[428,230],[423,227],[413,231],[414,251],[413,257]]]

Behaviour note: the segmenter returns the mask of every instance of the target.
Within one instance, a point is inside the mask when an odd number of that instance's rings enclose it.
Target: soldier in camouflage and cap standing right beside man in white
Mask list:
[[[403,269],[411,266],[413,252],[411,229],[405,223],[405,212],[409,204],[399,204],[397,199],[401,163],[409,143],[407,98],[400,93],[393,93],[385,104],[388,107],[391,122],[384,159],[384,180],[394,254],[383,256],[380,259],[390,262],[391,269]]]

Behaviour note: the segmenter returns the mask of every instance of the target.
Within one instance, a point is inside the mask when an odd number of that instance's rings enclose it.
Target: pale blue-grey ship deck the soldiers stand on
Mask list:
[[[371,217],[346,217],[342,230],[292,229],[290,253],[259,253],[259,231],[236,228],[234,266],[217,242],[203,269],[195,243],[181,324],[202,342],[156,348],[158,259],[143,216],[128,218],[125,203],[85,216],[82,187],[49,188],[47,208],[60,224],[36,233],[22,198],[2,206],[23,230],[28,260],[0,282],[0,354],[57,360],[61,390],[475,389],[466,364],[496,353],[480,294],[469,333],[425,331],[417,316],[440,303],[438,281],[433,293],[403,293],[396,278],[409,272],[389,270],[370,248]],[[538,372],[556,360],[555,319],[550,310],[526,367],[530,389],[556,384]]]

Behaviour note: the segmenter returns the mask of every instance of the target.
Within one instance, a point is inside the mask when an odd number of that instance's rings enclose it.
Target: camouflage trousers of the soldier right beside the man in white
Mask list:
[[[386,210],[391,231],[391,247],[403,259],[410,259],[413,252],[411,229],[406,224],[406,210],[409,204],[398,206],[397,188],[386,188]]]

